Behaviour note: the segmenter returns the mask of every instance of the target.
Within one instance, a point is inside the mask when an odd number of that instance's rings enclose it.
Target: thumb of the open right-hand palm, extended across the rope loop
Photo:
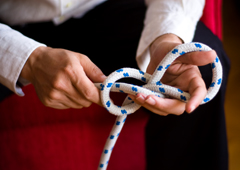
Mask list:
[[[217,54],[214,50],[211,51],[196,51],[196,52],[190,52],[186,53],[182,56],[180,56],[177,61],[181,61],[185,64],[193,64],[198,66],[203,66],[209,63],[212,63]]]

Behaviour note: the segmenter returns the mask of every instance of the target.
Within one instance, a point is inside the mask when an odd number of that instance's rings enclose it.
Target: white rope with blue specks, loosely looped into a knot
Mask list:
[[[101,100],[104,107],[110,113],[117,116],[115,124],[104,146],[98,170],[107,169],[108,161],[110,159],[113,147],[122,130],[127,115],[134,113],[141,107],[140,105],[134,103],[130,98],[126,98],[122,106],[114,105],[109,97],[110,91],[124,92],[133,95],[137,95],[138,93],[144,93],[146,95],[153,94],[163,98],[170,96],[183,102],[187,102],[190,99],[189,93],[175,87],[164,85],[160,82],[160,79],[162,78],[168,67],[171,65],[171,63],[177,57],[188,52],[210,50],[210,47],[201,43],[182,44],[175,47],[164,57],[153,75],[132,68],[122,68],[110,74],[108,78],[104,81],[104,83],[95,84],[99,89],[101,89]],[[204,104],[213,99],[221,86],[222,66],[218,57],[216,57],[215,61],[212,63],[212,72],[212,83],[208,88],[207,95],[201,104]],[[126,83],[115,83],[117,80],[126,77],[139,79],[147,84],[140,87]]]

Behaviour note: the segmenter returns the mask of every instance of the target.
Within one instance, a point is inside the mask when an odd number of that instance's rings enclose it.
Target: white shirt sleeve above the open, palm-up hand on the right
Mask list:
[[[145,0],[148,6],[144,29],[137,49],[137,63],[146,71],[150,61],[149,45],[159,36],[172,33],[191,42],[205,0]]]

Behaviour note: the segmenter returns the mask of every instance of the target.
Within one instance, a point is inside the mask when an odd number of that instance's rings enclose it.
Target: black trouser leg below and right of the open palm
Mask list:
[[[221,41],[202,22],[197,25],[193,41],[216,50],[223,66],[221,89],[211,102],[192,114],[166,117],[151,114],[146,128],[148,169],[228,169],[224,98],[230,63]],[[200,71],[209,87],[211,67],[200,67]]]

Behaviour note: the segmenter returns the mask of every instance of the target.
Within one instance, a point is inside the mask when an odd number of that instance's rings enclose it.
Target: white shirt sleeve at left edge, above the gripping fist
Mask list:
[[[24,93],[17,86],[22,68],[30,54],[45,46],[0,23],[0,83],[20,96]]]

